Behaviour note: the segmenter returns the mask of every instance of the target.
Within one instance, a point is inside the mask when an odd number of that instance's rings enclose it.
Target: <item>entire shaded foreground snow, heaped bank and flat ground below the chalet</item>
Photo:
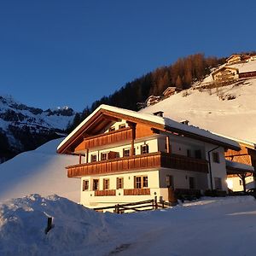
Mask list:
[[[55,225],[45,235],[47,218]],[[252,196],[123,215],[51,195],[0,204],[0,255],[255,255]]]

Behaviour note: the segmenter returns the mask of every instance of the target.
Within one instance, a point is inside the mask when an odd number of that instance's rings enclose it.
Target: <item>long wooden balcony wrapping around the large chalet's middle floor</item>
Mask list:
[[[179,154],[155,152],[135,156],[102,160],[98,162],[67,166],[67,177],[131,172],[143,169],[172,168],[191,172],[208,172],[207,160],[189,158]]]

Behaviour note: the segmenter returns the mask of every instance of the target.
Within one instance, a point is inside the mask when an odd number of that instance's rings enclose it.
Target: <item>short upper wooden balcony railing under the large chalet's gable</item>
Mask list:
[[[95,148],[111,143],[119,143],[131,140],[131,128],[123,128],[117,131],[110,131],[90,138],[84,138],[84,148]]]

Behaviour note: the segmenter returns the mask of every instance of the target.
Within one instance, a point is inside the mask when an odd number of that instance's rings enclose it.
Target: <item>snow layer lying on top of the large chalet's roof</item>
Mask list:
[[[216,142],[217,144],[224,144],[226,147],[230,148],[236,148],[237,150],[240,149],[239,143],[236,143],[233,140],[230,140],[226,137],[220,137],[218,135],[212,134],[210,131],[206,131],[203,129],[200,129],[199,127],[195,127],[192,125],[183,125],[177,121],[174,121],[172,119],[168,119],[165,117],[156,116],[154,114],[150,113],[138,113],[136,111],[124,109],[124,108],[116,108],[108,105],[102,104],[100,107],[96,108],[96,110],[91,113],[84,121],[78,125],[58,146],[57,149],[61,148],[61,146],[64,145],[64,143],[67,143],[67,141],[73,137],[98,111],[100,110],[107,110],[111,111],[113,113],[119,113],[123,114],[125,116],[130,116],[136,119],[143,119],[149,122],[152,122],[157,125],[163,125],[166,129],[170,129],[172,131],[181,132],[187,135],[194,135],[198,137],[205,137],[208,140],[212,140]]]

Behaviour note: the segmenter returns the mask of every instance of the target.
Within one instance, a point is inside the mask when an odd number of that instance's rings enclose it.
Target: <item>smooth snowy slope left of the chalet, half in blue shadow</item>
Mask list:
[[[79,179],[68,178],[66,166],[77,164],[73,155],[56,154],[61,139],[18,154],[0,165],[0,201],[31,193],[58,194],[79,201]]]

